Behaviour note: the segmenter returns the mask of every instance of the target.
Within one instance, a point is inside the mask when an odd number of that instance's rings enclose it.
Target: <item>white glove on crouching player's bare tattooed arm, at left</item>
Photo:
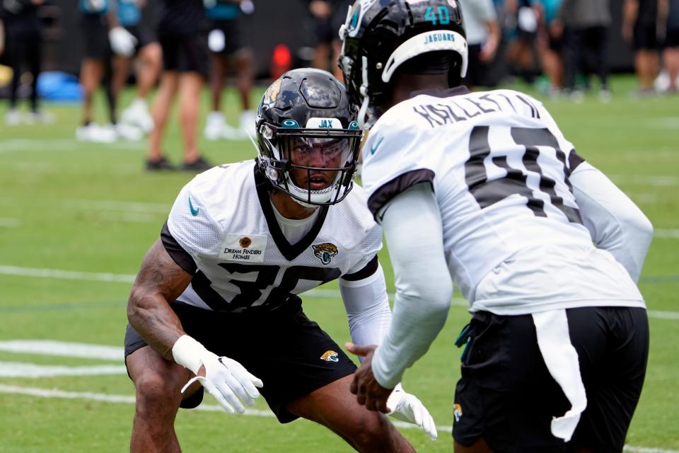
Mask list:
[[[255,387],[262,387],[262,381],[250,374],[243,365],[228,357],[217,357],[190,336],[181,336],[172,347],[172,355],[179,365],[198,373],[201,365],[205,366],[205,377],[196,376],[182,388],[182,393],[191,384],[198,381],[214,396],[221,407],[228,413],[243,413],[245,407],[252,406],[254,398],[260,396]],[[241,401],[243,403],[241,403]]]

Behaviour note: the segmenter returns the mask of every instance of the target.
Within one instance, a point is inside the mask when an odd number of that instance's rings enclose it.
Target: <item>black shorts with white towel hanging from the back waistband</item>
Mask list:
[[[455,389],[453,437],[470,446],[482,437],[496,452],[559,452],[587,447],[622,452],[644,384],[649,350],[646,310],[568,309],[587,408],[569,444],[552,435],[552,417],[570,403],[547,371],[530,315],[478,312]]]

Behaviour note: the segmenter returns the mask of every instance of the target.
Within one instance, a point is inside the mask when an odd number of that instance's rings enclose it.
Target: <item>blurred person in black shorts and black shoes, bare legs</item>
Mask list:
[[[154,127],[146,160],[146,169],[149,171],[174,169],[163,156],[162,142],[177,93],[184,155],[180,169],[203,171],[211,168],[211,164],[198,151],[199,105],[208,64],[205,22],[202,0],[164,0],[158,23],[164,69],[151,111]]]

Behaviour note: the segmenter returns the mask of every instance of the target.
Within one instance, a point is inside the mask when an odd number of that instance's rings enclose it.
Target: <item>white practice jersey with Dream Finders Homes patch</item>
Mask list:
[[[290,244],[255,161],[199,174],[182,188],[161,234],[170,256],[194,275],[177,300],[216,311],[274,309],[340,276],[374,273],[382,230],[364,190],[355,185],[342,202],[318,209],[311,230]]]

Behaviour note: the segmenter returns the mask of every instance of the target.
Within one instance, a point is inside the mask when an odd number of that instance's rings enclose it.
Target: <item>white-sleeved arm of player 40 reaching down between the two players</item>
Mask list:
[[[439,207],[431,188],[418,186],[397,195],[383,215],[396,299],[391,328],[376,350],[372,367],[379,384],[388,389],[429,349],[446,322],[453,295]],[[423,262],[428,265],[422,266]]]

